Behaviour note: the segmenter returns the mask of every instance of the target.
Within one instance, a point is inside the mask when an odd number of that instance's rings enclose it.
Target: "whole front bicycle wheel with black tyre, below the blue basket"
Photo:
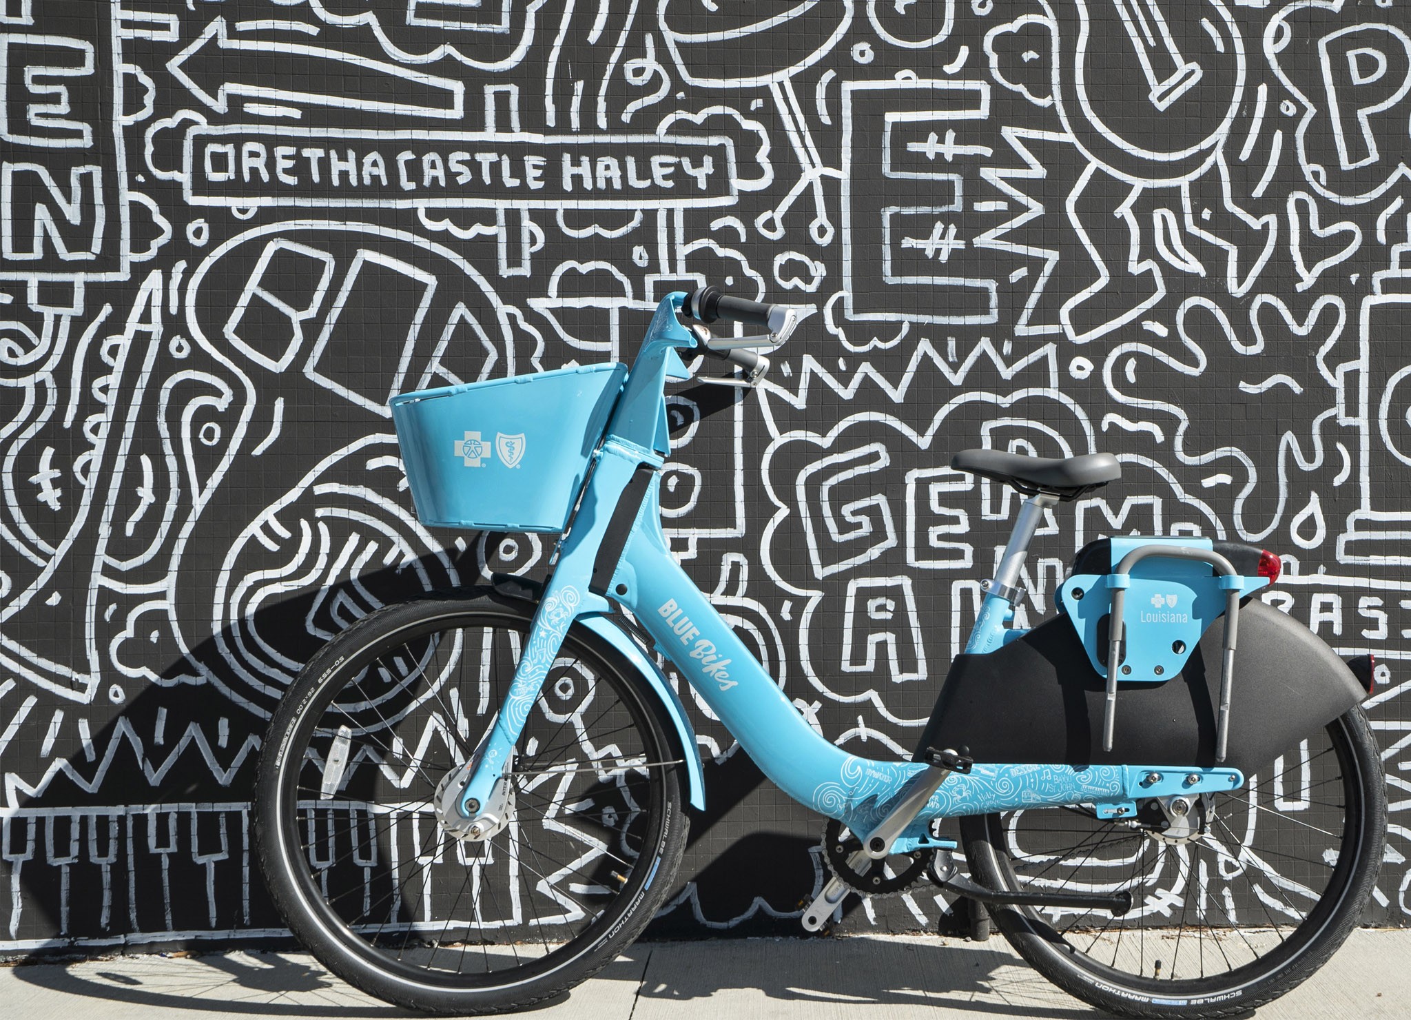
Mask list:
[[[477,842],[442,824],[437,784],[492,724],[532,614],[485,591],[380,609],[309,662],[270,722],[265,883],[305,947],[380,999],[521,1009],[608,964],[670,887],[683,749],[632,669],[579,628],[516,743],[508,825]]]

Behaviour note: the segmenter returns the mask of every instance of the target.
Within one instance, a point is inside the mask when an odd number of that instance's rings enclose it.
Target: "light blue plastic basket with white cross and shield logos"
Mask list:
[[[626,365],[610,364],[394,396],[416,516],[562,532],[625,380]]]

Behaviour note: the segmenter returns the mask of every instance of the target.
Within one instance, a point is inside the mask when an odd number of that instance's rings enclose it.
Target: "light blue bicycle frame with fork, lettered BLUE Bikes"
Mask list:
[[[610,594],[636,617],[658,650],[775,784],[849,830],[869,832],[907,782],[931,766],[861,758],[817,734],[676,563],[662,532],[658,470],[670,450],[663,389],[667,378],[689,378],[677,351],[697,346],[677,322],[683,299],[680,292],[667,295],[652,319],[560,545],[505,703],[477,749],[461,810],[474,817],[471,801],[490,801],[569,628],[580,617],[611,612]],[[612,528],[614,512],[639,473],[648,475],[645,492],[643,478],[636,481],[641,502],[625,504],[626,512],[635,508],[631,529],[625,540],[605,543],[610,532],[621,532],[621,522]],[[1007,626],[1010,600],[1017,597],[1013,584],[1034,526],[1051,505],[1046,499],[1024,502],[967,650],[989,652],[1020,633]],[[1003,697],[1003,691],[995,696]],[[697,753],[694,748],[683,751]],[[1102,817],[1130,817],[1137,797],[1228,791],[1243,783],[1235,769],[976,763],[968,775],[951,773],[893,846],[952,846],[928,834],[930,822],[943,817],[1060,804],[1092,804]]]

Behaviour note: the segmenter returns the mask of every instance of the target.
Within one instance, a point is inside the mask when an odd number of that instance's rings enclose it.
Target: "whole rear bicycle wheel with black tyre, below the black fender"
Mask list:
[[[1132,893],[1132,910],[992,907],[1034,969],[1132,1017],[1225,1017],[1278,997],[1362,918],[1386,842],[1377,743],[1353,708],[1173,824],[1154,801],[961,820],[971,875],[998,890]]]

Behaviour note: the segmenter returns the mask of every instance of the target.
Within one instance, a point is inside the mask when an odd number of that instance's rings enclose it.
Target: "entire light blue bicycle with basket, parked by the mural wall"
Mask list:
[[[759,334],[714,339],[718,320]],[[1115,1013],[1237,1014],[1312,973],[1381,858],[1381,765],[1359,707],[1370,657],[1342,662],[1250,597],[1277,580],[1276,556],[1209,539],[1094,542],[1058,615],[1012,628],[1040,519],[1120,468],[968,450],[954,468],[1027,498],[965,652],[912,760],[834,746],[659,521],[663,391],[691,375],[680,354],[724,358],[751,385],[758,351],[793,327],[786,306],[672,293],[631,370],[392,401],[423,522],[563,538],[542,585],[498,577],[385,607],[289,688],[255,832],[293,933],[354,985],[437,1013],[523,1007],[597,972],[676,889],[684,804],[706,800],[663,656],[828,820],[809,931],[849,892],[930,882],[985,904],[1038,971]]]

